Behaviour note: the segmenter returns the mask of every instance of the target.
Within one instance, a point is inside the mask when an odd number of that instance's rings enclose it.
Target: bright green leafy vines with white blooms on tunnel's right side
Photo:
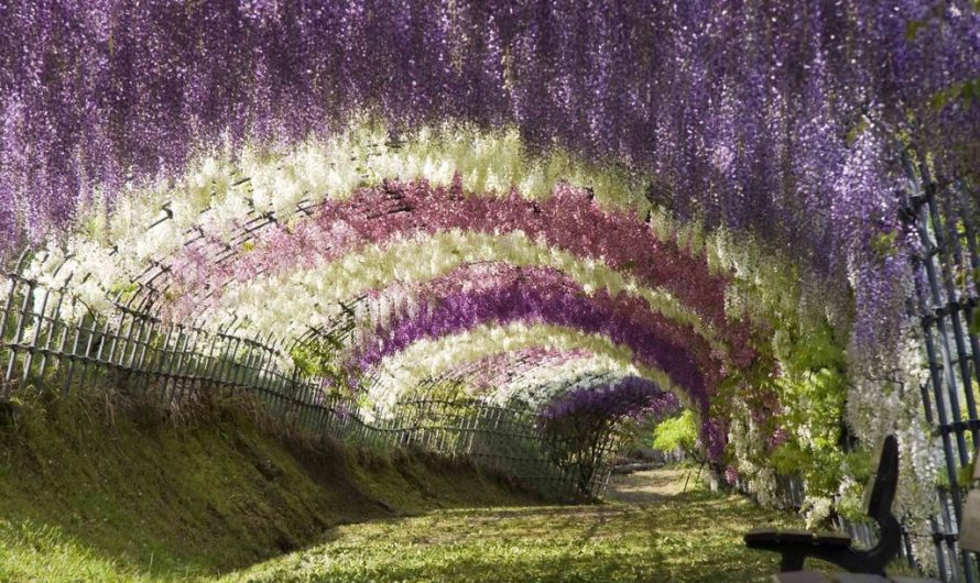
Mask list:
[[[865,124],[857,121],[848,139],[859,138]],[[880,254],[892,252],[892,237],[872,243]],[[776,258],[765,258],[773,255]],[[772,326],[755,340],[758,360],[767,362],[754,365],[750,375],[723,381],[721,391],[743,403],[743,410],[715,410],[720,400],[715,399],[711,415],[741,421],[732,425],[729,453],[734,455],[728,462],[743,477],[751,481],[772,465],[777,473],[803,477],[812,494],[829,495],[845,473],[840,442],[848,392],[847,322],[852,314],[828,312],[820,297],[823,282],[804,280],[798,268],[777,257],[773,250],[739,260],[739,271],[752,276],[733,282],[733,297],[741,298],[737,306],[745,314]],[[777,430],[786,441],[770,446],[767,438]]]

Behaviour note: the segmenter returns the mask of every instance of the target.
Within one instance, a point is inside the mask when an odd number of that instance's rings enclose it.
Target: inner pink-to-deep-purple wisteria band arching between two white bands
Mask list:
[[[417,312],[371,326],[370,344],[352,358],[358,370],[368,370],[422,339],[519,321],[579,329],[628,345],[641,362],[664,371],[674,386],[701,404],[721,375],[710,346],[690,329],[673,326],[635,299],[602,292],[590,297],[551,270],[477,265],[429,283],[420,301]]]

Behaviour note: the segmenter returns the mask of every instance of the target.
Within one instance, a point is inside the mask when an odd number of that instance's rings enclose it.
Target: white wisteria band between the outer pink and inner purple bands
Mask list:
[[[420,257],[425,260],[420,261]],[[388,245],[371,244],[352,253],[307,270],[295,270],[275,277],[258,276],[226,287],[220,302],[195,316],[208,316],[210,326],[243,317],[260,330],[288,330],[291,327],[317,328],[341,311],[338,302],[357,298],[393,284],[425,282],[461,265],[502,262],[514,266],[541,266],[568,274],[587,293],[605,289],[610,295],[632,292],[651,310],[689,323],[701,336],[721,346],[710,329],[698,326],[689,310],[683,309],[669,294],[640,287],[632,278],[590,260],[549,249],[516,231],[500,235],[447,231],[432,237],[396,240]],[[313,301],[309,298],[314,298]],[[379,296],[389,309],[396,298]],[[379,312],[384,306],[379,306]],[[745,352],[742,351],[742,358]],[[748,354],[751,358],[751,353]]]

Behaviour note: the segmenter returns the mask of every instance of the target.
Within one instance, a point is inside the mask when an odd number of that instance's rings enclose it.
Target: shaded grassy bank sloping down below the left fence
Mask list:
[[[0,581],[171,581],[336,525],[531,502],[471,468],[270,437],[211,405],[173,424],[120,399],[29,404],[0,427]]]

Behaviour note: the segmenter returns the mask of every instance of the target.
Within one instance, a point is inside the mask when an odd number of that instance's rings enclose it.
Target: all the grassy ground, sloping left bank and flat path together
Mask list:
[[[28,400],[0,422],[3,583],[762,582],[777,558],[742,535],[799,526],[678,494],[682,472],[624,483],[652,504],[543,506],[471,465],[273,437],[227,403],[174,422],[118,395]]]

